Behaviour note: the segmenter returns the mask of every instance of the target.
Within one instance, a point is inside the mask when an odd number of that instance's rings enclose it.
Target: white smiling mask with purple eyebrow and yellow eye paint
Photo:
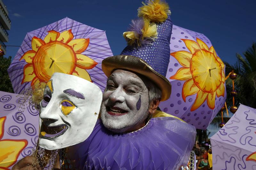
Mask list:
[[[83,142],[96,124],[102,92],[73,75],[54,73],[40,103],[39,146],[47,150]]]

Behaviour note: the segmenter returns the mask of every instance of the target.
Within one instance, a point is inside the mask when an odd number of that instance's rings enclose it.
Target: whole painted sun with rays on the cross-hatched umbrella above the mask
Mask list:
[[[73,38],[71,30],[62,33],[48,31],[44,40],[33,37],[32,50],[20,58],[28,63],[24,67],[21,84],[31,81],[32,86],[39,82],[47,82],[54,72],[72,74],[92,82],[85,69],[92,69],[98,63],[81,54],[87,49],[89,38]]]

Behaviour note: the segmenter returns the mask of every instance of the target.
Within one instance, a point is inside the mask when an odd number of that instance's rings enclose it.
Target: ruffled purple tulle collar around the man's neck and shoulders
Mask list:
[[[78,169],[179,169],[187,165],[195,143],[194,126],[172,117],[151,118],[135,132],[116,134],[98,120],[78,144]]]

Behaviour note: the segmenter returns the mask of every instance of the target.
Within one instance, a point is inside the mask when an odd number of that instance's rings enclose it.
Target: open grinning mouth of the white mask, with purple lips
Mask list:
[[[63,135],[67,129],[68,126],[66,124],[46,126],[44,122],[42,122],[40,137],[46,139],[56,138]]]

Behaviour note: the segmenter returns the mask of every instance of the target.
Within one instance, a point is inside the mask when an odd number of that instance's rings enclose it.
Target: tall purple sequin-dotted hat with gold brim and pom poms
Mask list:
[[[138,9],[138,19],[132,20],[123,33],[128,45],[120,55],[102,61],[107,77],[113,70],[127,69],[152,80],[162,91],[161,101],[171,95],[171,84],[165,78],[170,61],[172,21],[169,6],[160,0],[143,3]]]

